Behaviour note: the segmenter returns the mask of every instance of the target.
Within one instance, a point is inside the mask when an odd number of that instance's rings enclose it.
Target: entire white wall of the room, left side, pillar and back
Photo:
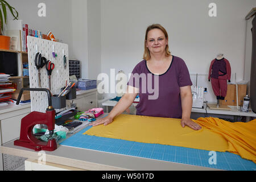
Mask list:
[[[195,82],[201,73],[207,81],[210,61],[224,53],[232,67],[232,81],[246,75],[245,16],[255,0],[9,0],[19,18],[31,28],[53,34],[69,45],[69,57],[82,62],[83,78],[96,79],[98,73],[123,70],[127,75],[142,60],[144,33],[152,23],[162,24],[169,34],[173,55],[183,58]],[[47,16],[39,17],[38,3],[47,6]],[[209,17],[209,3],[217,5],[217,17]],[[244,69],[246,72],[244,72]]]

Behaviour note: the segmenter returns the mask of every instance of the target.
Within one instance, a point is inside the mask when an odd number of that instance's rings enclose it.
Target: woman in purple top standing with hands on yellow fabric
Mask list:
[[[168,47],[168,34],[160,24],[147,27],[144,56],[133,69],[133,74],[127,83],[127,93],[114,106],[108,116],[93,122],[92,126],[108,125],[113,118],[125,111],[139,93],[140,101],[137,105],[137,115],[152,117],[181,118],[181,126],[189,126],[200,130],[201,126],[190,119],[192,109],[191,79],[184,61],[171,55]],[[135,74],[137,73],[137,74]],[[143,74],[152,83],[157,97],[152,96],[148,90],[143,92]],[[146,86],[148,89],[148,85]]]

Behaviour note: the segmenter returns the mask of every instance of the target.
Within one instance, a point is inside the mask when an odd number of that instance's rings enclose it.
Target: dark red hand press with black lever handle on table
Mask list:
[[[55,109],[52,107],[51,92],[44,88],[22,88],[19,92],[16,105],[19,104],[20,97],[23,90],[29,91],[45,91],[48,95],[48,107],[46,113],[40,113],[38,111],[32,111],[21,120],[20,126],[20,138],[14,141],[15,146],[21,146],[34,149],[35,151],[46,150],[54,151],[57,148],[57,142],[55,139],[50,139],[48,142],[42,142],[35,138],[33,135],[33,127],[37,124],[44,124],[48,126],[49,135],[52,136],[55,128]]]

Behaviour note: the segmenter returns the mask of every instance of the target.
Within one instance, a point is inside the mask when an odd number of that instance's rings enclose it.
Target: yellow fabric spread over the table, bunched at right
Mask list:
[[[193,120],[193,119],[192,119]],[[181,119],[120,114],[109,125],[92,127],[84,134],[159,143],[209,151],[228,151],[256,163],[256,119],[231,123],[218,118],[193,120],[202,126],[181,127]]]

